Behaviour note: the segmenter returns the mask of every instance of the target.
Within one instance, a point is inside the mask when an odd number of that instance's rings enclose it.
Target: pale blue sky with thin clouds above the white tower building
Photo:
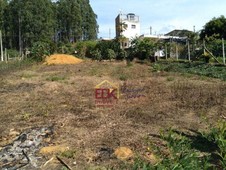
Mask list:
[[[122,13],[140,17],[141,34],[165,34],[173,29],[196,31],[213,17],[226,17],[226,0],[90,0],[97,14],[99,37],[115,37],[115,18]]]

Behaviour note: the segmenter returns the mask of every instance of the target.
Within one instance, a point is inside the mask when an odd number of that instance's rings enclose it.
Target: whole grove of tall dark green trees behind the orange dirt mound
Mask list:
[[[53,53],[68,43],[95,40],[96,18],[89,0],[0,1],[4,48],[16,49],[20,55],[32,51],[32,57],[37,55],[38,60],[43,47],[45,55],[47,49]],[[67,47],[65,52],[68,51],[72,50]]]

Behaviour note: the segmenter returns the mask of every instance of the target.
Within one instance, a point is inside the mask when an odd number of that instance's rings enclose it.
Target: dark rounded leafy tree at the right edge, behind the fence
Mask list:
[[[206,36],[209,37],[214,34],[219,34],[220,38],[226,39],[226,18],[223,15],[207,22],[204,29],[201,30],[200,38],[204,39]]]

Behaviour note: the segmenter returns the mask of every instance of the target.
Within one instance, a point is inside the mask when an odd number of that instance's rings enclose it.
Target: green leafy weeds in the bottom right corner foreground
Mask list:
[[[210,131],[184,133],[174,129],[163,132],[157,143],[147,138],[148,148],[157,162],[150,163],[141,157],[122,169],[182,170],[226,168],[226,122],[219,122]],[[155,136],[156,137],[156,136]]]

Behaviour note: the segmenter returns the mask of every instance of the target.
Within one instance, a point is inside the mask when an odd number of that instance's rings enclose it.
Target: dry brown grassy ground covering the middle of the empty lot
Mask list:
[[[94,88],[104,80],[133,92],[120,93],[112,107],[97,107]],[[75,151],[67,160],[73,169],[117,169],[121,160],[110,153],[120,146],[142,156],[150,134],[214,124],[225,113],[225,87],[217,79],[153,72],[140,63],[34,65],[0,75],[0,140],[12,129],[53,125],[50,144]]]

